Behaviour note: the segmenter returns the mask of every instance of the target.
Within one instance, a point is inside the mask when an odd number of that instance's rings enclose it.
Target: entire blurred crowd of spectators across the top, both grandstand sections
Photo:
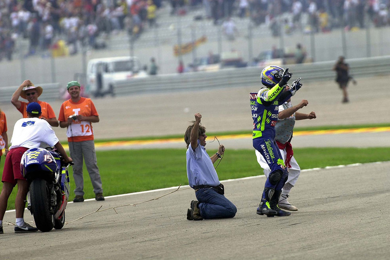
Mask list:
[[[156,26],[162,0],[0,0],[0,60],[12,59],[18,37],[29,40],[27,55],[53,46],[63,39],[70,54],[79,44],[104,47],[96,41],[100,33],[126,30],[139,36]],[[364,28],[365,20],[375,26],[390,24],[390,0],[169,0],[171,15],[186,15],[192,6],[204,8],[204,17],[222,24],[229,17],[250,17],[254,24],[267,23],[279,34],[279,15],[287,33],[293,30],[326,32],[335,27]],[[203,6],[203,7],[202,7]],[[308,20],[302,20],[307,14]],[[286,16],[285,16],[286,17]]]

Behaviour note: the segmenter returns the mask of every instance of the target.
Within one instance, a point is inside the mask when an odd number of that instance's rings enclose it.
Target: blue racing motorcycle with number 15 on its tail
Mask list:
[[[69,163],[52,147],[31,148],[22,156],[20,168],[30,184],[27,209],[42,232],[61,229],[69,198]],[[73,164],[73,163],[71,163]]]

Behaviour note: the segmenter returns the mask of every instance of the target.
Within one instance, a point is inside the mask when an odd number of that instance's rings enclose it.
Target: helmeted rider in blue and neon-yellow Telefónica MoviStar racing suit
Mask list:
[[[275,142],[275,124],[279,113],[279,104],[289,100],[302,86],[299,79],[292,83],[292,88],[284,91],[287,82],[292,78],[289,69],[278,66],[267,66],[261,72],[261,83],[266,86],[257,93],[252,106],[253,146],[266,159],[271,169],[265,184],[260,204],[256,213],[259,215],[290,216],[277,207],[282,188],[288,178],[288,171],[283,157]]]

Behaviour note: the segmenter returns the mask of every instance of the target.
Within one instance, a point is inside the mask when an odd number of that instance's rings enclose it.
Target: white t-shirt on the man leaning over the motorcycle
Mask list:
[[[16,121],[12,133],[11,147],[38,148],[41,142],[54,146],[58,138],[50,124],[39,118],[22,118]]]

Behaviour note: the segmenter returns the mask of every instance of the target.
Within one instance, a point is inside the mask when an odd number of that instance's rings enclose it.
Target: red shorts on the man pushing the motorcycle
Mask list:
[[[9,150],[5,157],[2,182],[9,182],[16,185],[18,179],[26,180],[20,171],[20,160],[24,152],[27,151],[26,147],[17,147]]]

